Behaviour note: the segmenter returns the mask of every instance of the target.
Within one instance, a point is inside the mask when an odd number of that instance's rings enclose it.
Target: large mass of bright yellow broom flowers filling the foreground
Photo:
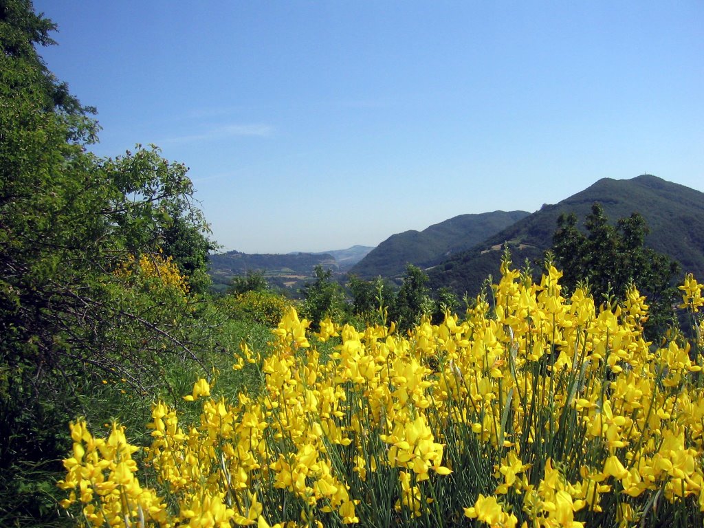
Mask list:
[[[701,525],[701,323],[650,343],[636,289],[596,306],[559,279],[505,262],[495,308],[407,335],[289,308],[234,365],[260,390],[199,379],[199,417],[154,403],[144,448],[73,423],[63,505],[95,527]]]

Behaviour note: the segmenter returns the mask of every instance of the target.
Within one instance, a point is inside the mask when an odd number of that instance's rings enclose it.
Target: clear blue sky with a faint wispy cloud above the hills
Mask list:
[[[375,246],[602,177],[704,191],[704,2],[35,0],[103,127],[224,249]]]

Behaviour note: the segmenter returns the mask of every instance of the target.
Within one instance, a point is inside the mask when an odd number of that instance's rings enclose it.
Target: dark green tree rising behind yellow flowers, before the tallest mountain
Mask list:
[[[611,225],[601,204],[594,203],[584,228],[586,232],[579,229],[574,213],[563,213],[553,234],[552,252],[562,269],[562,284],[567,291],[586,282],[598,302],[605,296],[622,299],[634,284],[648,296],[648,335],[653,336],[674,322],[672,303],[677,289],[673,281],[679,264],[645,246],[648,225],[643,216],[633,213]]]

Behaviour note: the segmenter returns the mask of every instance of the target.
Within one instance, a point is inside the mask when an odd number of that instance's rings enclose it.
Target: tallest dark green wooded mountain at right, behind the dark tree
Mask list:
[[[543,206],[437,265],[429,271],[431,286],[451,287],[458,294],[477,294],[486,277],[498,276],[505,242],[515,266],[522,266],[528,258],[534,267],[539,267],[536,263],[552,246],[560,213],[575,213],[582,225],[594,202],[602,204],[612,222],[641,213],[650,227],[646,246],[677,260],[684,272],[704,277],[704,193],[653,175],[641,175],[631,180],[604,178],[560,203]]]

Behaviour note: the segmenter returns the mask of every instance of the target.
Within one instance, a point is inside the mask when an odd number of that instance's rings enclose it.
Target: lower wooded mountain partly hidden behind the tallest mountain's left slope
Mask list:
[[[471,248],[517,220],[525,211],[494,211],[478,215],[459,215],[422,231],[392,234],[354,265],[350,273],[371,278],[401,275],[406,264],[427,267],[447,256]]]

